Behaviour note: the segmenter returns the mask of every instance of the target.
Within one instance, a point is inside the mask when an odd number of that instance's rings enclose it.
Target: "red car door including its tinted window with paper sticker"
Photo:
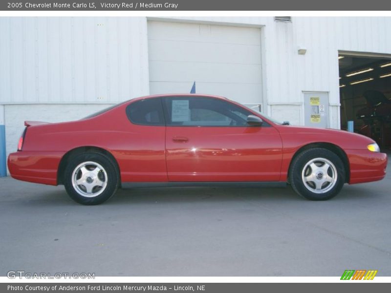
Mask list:
[[[213,97],[165,97],[166,162],[171,182],[278,181],[282,141],[254,114]]]

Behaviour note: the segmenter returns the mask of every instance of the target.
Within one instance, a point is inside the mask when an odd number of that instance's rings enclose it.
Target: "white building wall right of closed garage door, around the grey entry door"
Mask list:
[[[338,51],[391,54],[390,17],[175,18],[261,26],[263,101],[268,115],[304,124],[303,91],[329,94],[329,126],[340,127]],[[307,50],[299,55],[298,49]],[[299,106],[298,106],[299,105]],[[302,105],[302,106],[300,106]],[[300,116],[298,113],[300,108]]]

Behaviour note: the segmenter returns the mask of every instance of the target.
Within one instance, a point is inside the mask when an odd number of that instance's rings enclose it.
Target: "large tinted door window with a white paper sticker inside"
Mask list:
[[[172,126],[247,126],[250,111],[214,98],[164,98],[167,125]]]

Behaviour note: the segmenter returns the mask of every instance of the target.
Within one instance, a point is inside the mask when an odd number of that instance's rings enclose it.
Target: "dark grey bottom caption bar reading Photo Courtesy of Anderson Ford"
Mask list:
[[[350,283],[349,283],[350,282]],[[348,284],[349,283],[349,284]],[[388,292],[388,283],[2,283],[7,293],[263,293]]]

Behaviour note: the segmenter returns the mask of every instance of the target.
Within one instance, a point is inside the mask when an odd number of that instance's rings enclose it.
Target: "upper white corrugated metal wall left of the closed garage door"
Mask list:
[[[0,18],[0,104],[113,104],[147,95],[146,23]]]

